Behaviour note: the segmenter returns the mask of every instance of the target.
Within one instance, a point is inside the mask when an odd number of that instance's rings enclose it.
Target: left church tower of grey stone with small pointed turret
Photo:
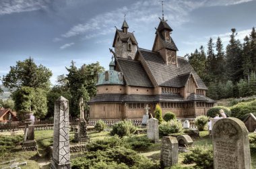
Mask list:
[[[133,60],[137,52],[137,41],[133,33],[128,32],[128,24],[123,21],[122,30],[116,30],[113,48],[119,58],[127,58]]]

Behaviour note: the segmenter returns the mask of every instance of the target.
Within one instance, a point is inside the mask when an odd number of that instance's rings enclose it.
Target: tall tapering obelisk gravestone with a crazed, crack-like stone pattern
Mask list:
[[[69,101],[59,97],[55,101],[52,169],[69,169]]]

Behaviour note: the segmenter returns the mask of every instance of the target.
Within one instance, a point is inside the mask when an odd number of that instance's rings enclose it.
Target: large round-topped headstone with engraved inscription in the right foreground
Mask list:
[[[228,117],[219,119],[212,129],[214,168],[250,169],[248,131],[243,121]]]

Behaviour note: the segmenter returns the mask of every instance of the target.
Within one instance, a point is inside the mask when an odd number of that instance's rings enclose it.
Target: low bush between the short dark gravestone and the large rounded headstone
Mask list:
[[[211,147],[199,147],[191,148],[191,151],[184,156],[184,164],[195,163],[197,168],[214,168],[214,153]]]

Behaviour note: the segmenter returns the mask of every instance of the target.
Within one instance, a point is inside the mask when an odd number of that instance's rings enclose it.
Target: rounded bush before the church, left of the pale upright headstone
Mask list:
[[[125,135],[129,136],[135,133],[136,127],[131,123],[131,121],[120,121],[119,123],[115,123],[113,125],[112,130],[110,131],[110,135],[117,134],[119,137],[123,137]]]

